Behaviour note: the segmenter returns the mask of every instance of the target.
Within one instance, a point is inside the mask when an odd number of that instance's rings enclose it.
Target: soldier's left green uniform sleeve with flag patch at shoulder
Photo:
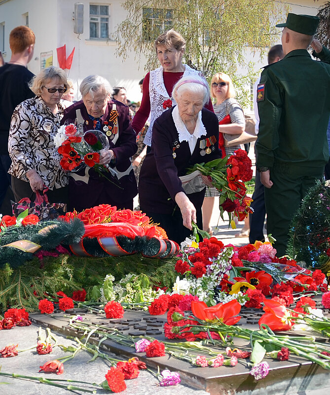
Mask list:
[[[283,106],[283,89],[271,67],[261,73],[260,84],[264,84],[262,98],[257,101],[260,118],[257,138],[257,167],[272,167],[274,151],[279,144],[279,127]]]

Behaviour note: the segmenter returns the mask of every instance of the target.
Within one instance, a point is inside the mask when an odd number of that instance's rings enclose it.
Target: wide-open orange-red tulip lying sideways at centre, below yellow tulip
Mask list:
[[[241,311],[241,305],[236,299],[228,303],[219,303],[216,306],[207,307],[206,303],[197,300],[191,301],[192,314],[200,320],[208,322],[218,322],[225,325],[238,323],[241,317],[236,317]]]

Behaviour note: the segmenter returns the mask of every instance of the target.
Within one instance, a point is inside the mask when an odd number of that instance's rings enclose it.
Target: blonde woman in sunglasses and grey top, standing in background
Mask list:
[[[245,130],[245,118],[242,107],[237,100],[234,99],[236,93],[229,75],[219,72],[212,77],[211,96],[216,99],[216,104],[213,105],[213,109],[219,122],[222,121],[226,115],[229,114],[230,116],[231,123],[219,125],[219,146],[222,151],[222,157],[231,155],[236,149],[241,148],[241,146],[223,147],[222,135],[238,135],[243,133]],[[209,232],[211,236],[213,234],[211,216],[216,196],[219,196],[219,191],[216,188],[206,188],[203,203],[203,229]]]

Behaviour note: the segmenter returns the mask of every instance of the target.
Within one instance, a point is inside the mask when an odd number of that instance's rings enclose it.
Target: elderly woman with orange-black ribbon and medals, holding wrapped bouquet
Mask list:
[[[101,151],[99,164],[110,172],[103,177],[86,167],[70,173],[70,209],[82,211],[99,204],[133,209],[137,184],[130,158],[137,151],[137,144],[129,109],[116,100],[108,101],[112,88],[99,75],[83,79],[79,90],[82,100],[67,108],[61,123],[76,123],[78,127],[82,125],[84,132],[100,130],[107,135],[110,149]]]

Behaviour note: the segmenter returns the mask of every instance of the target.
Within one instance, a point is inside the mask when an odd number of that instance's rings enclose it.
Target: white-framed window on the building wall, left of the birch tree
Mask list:
[[[89,38],[109,38],[109,5],[89,4]]]

